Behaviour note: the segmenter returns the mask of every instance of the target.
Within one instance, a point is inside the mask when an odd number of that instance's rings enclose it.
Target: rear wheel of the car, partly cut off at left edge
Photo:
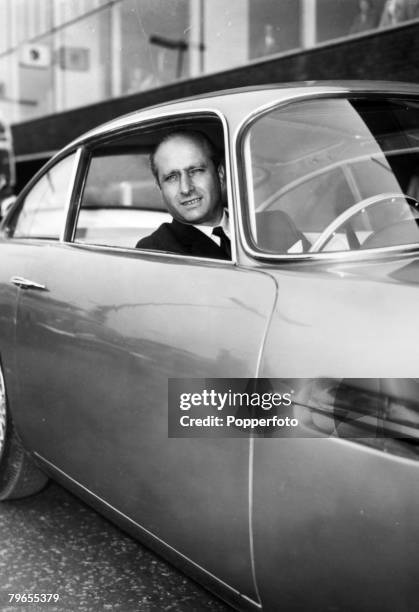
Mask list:
[[[0,500],[18,499],[42,489],[48,478],[22,446],[7,407],[0,366]]]

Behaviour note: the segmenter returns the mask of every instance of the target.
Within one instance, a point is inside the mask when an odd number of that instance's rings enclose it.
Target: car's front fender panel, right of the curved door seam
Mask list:
[[[416,264],[394,258],[276,270],[278,303],[260,375],[417,376]],[[296,408],[294,416],[302,414]],[[391,440],[383,452],[365,440],[306,433],[317,438],[289,433],[254,442],[252,527],[263,609],[415,609],[419,461],[408,449],[402,458]]]

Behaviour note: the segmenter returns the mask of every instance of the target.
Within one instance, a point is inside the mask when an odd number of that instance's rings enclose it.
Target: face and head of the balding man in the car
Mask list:
[[[158,147],[154,163],[163,199],[175,219],[196,225],[221,220],[224,168],[215,168],[203,143],[174,136]]]

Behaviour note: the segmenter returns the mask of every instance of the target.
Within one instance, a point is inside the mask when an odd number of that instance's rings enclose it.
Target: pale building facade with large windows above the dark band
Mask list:
[[[418,16],[417,0],[0,0],[14,123]]]

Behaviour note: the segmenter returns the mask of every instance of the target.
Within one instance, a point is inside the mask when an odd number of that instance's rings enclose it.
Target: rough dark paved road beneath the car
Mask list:
[[[56,484],[0,504],[1,612],[232,612]],[[9,604],[8,593],[58,593]]]

